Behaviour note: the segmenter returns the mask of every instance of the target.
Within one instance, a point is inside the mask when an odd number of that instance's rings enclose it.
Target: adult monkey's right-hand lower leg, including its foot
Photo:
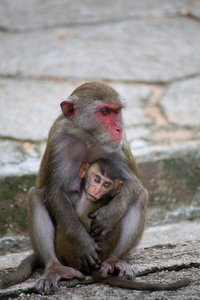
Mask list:
[[[119,277],[133,279],[134,271],[131,266],[119,258],[124,257],[133,247],[137,246],[142,237],[146,221],[147,201],[148,192],[143,189],[137,201],[132,204],[121,221],[122,229],[118,243],[110,257],[101,266],[100,276],[102,278],[106,278],[109,273],[118,270]]]

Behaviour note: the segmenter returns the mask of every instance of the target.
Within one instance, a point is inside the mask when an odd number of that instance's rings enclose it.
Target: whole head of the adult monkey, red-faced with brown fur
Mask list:
[[[67,124],[70,133],[84,140],[88,148],[113,152],[121,147],[122,103],[112,88],[99,83],[84,84],[61,107],[71,123]]]

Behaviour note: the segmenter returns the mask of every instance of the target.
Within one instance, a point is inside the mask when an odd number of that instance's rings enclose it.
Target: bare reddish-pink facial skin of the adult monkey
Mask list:
[[[110,135],[110,144],[116,145],[123,138],[123,129],[120,122],[121,106],[102,103],[96,110],[96,117]]]

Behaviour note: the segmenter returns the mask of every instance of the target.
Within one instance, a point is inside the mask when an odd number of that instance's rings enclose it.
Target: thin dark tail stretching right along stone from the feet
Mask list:
[[[95,276],[96,277],[96,276]],[[98,282],[108,284],[113,287],[121,287],[125,289],[134,289],[134,290],[148,290],[148,291],[163,291],[163,290],[177,290],[184,286],[187,286],[191,283],[190,279],[183,279],[173,283],[151,283],[151,282],[141,282],[136,280],[127,280],[119,277],[109,275],[107,278],[102,279],[97,276]]]

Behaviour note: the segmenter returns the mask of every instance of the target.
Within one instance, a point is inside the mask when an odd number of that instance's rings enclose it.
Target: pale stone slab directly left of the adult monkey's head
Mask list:
[[[77,85],[0,79],[0,135],[19,140],[46,139],[53,121],[61,113],[61,100]]]

